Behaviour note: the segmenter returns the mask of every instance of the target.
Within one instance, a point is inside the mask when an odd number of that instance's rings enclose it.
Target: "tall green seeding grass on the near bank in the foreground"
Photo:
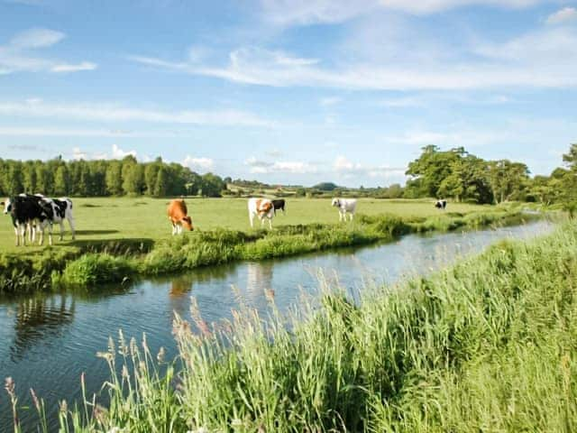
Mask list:
[[[174,324],[180,373],[145,341],[139,348],[121,335],[100,356],[111,371],[128,364],[133,373],[113,373],[107,409],[88,398],[80,411],[62,410],[61,423],[65,431],[575,431],[575,270],[572,222],[365,292],[358,306],[325,289],[320,307],[304,302],[289,319],[272,303],[268,322],[243,310],[208,327],[195,310],[195,323]]]

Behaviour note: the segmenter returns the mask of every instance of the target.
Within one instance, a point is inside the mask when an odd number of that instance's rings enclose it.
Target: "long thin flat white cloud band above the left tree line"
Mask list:
[[[274,122],[249,112],[224,111],[162,111],[130,108],[116,104],[53,104],[0,102],[0,115],[53,117],[65,120],[99,122],[147,122],[160,124],[206,124],[225,126],[273,127]]]

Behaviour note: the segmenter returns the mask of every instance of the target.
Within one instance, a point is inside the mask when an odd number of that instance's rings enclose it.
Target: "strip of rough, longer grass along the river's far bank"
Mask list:
[[[350,224],[279,226],[272,231],[197,230],[160,240],[77,241],[31,253],[0,254],[0,293],[50,290],[54,286],[93,287],[200,266],[388,242],[408,233],[514,225],[536,217],[492,208],[431,217],[359,215]]]

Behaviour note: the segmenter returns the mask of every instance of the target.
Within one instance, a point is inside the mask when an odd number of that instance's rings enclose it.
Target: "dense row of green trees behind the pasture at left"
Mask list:
[[[179,163],[157,158],[123,160],[14,161],[0,159],[0,196],[42,193],[47,196],[201,195],[220,197],[226,183],[213,173],[200,175]]]

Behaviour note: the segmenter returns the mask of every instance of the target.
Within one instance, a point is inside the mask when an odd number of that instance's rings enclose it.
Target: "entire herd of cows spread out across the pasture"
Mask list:
[[[52,244],[52,226],[60,225],[60,241],[64,232],[64,220],[68,220],[72,239],[75,238],[74,217],[72,215],[72,200],[69,198],[47,198],[41,194],[20,194],[12,198],[6,198],[0,203],[4,206],[4,213],[10,214],[16,235],[16,245],[26,244],[26,233],[29,235],[31,244],[35,242],[36,235],[40,234],[39,244],[44,243],[44,230],[48,227],[50,245]],[[339,221],[346,221],[347,215],[353,221],[357,209],[356,198],[333,198],[333,207],[339,211]],[[445,209],[446,200],[437,200],[435,207]],[[254,226],[254,217],[269,221],[272,228],[272,218],[277,215],[277,210],[284,214],[287,203],[284,199],[270,200],[268,198],[249,198],[248,200],[249,221]],[[187,205],[182,198],[171,200],[167,209],[172,235],[179,235],[183,230],[193,230],[192,218],[188,216]]]

